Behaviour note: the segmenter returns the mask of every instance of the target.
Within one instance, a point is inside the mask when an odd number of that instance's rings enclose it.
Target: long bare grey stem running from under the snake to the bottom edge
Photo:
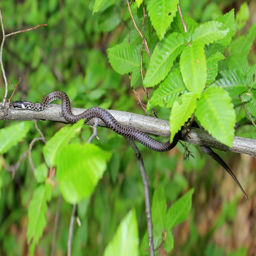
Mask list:
[[[127,139],[130,145],[133,148],[137,161],[139,163],[140,174],[143,180],[144,186],[144,194],[145,194],[145,206],[146,206],[146,222],[147,222],[147,232],[148,232],[148,243],[150,246],[150,255],[154,256],[154,239],[153,239],[153,224],[152,224],[152,216],[151,216],[151,203],[150,203],[150,189],[148,185],[148,180],[146,176],[145,166],[143,163],[143,159],[141,157],[140,151],[136,146],[135,142],[132,139]]]

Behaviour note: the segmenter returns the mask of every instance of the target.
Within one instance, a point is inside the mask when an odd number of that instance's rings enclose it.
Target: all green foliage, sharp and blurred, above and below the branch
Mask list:
[[[155,108],[159,117],[169,120],[170,140],[193,115],[228,146],[235,134],[256,139],[256,24],[249,23],[250,8],[243,3],[234,10],[229,1],[222,2],[223,9],[218,1],[180,1],[185,32],[177,3],[136,0],[129,6],[131,17],[121,0],[2,1],[6,34],[48,24],[6,40],[8,80],[15,84],[22,77],[13,100],[38,102],[47,93],[62,90],[77,107],[98,105],[144,114],[132,87],[148,112]],[[142,86],[149,99],[141,93]],[[4,88],[0,92],[4,95]],[[0,254],[20,255],[27,251],[27,243],[30,254],[41,250],[49,255],[54,239],[56,254],[67,253],[74,203],[81,222],[80,227],[75,224],[74,255],[147,254],[143,183],[134,153],[107,129],[98,130],[100,140],[84,143],[91,131],[82,128],[83,122],[38,123],[45,145],[32,143],[38,137],[32,123],[0,122]],[[228,254],[228,248],[230,255],[249,253],[251,241],[240,248],[232,247],[234,241],[216,242],[223,229],[230,234],[239,228],[235,225],[242,218],[236,209],[245,212],[229,177],[220,179],[219,169],[214,172],[211,162],[206,165],[208,158],[201,158],[194,146],[189,151],[195,158],[184,161],[181,145],[166,154],[138,147],[153,195],[155,248],[175,254]],[[23,160],[26,152],[29,159]],[[235,168],[239,159],[231,158]],[[254,178],[243,182],[251,191]],[[220,205],[225,193],[234,200]],[[253,226],[249,221],[243,224]]]

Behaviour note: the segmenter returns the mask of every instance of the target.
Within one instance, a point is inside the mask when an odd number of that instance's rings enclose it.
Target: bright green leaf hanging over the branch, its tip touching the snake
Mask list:
[[[186,93],[181,97],[182,103],[176,101],[170,112],[170,142],[173,141],[175,134],[181,129],[181,126],[188,120],[196,109],[198,95]]]

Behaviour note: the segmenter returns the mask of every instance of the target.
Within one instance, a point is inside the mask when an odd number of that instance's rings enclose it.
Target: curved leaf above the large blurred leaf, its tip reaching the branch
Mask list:
[[[70,140],[80,132],[83,123],[84,120],[79,120],[71,126],[62,127],[51,139],[47,141],[44,148],[42,148],[42,152],[49,167],[55,165],[55,157],[58,154],[58,151],[63,145],[68,144]]]

